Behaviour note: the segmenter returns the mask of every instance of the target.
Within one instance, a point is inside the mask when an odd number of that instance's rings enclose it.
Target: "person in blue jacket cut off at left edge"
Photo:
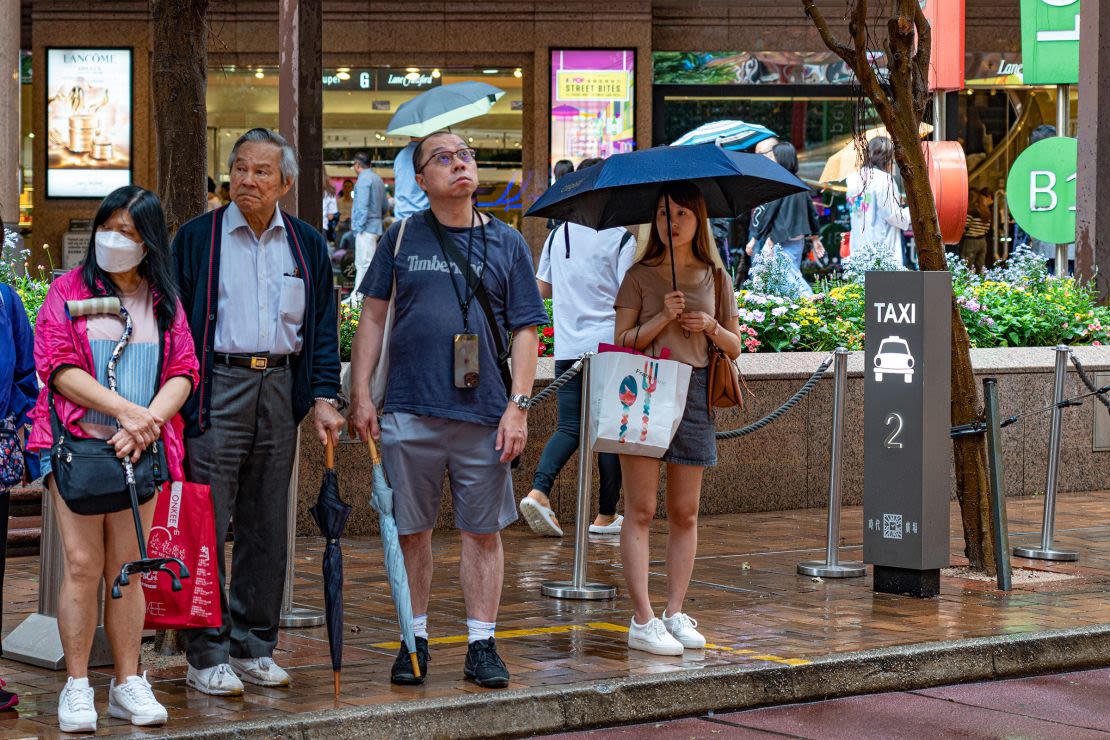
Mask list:
[[[7,245],[12,233],[0,221],[0,244]],[[31,324],[16,288],[0,283],[0,604],[3,604],[10,487],[39,476],[37,456],[23,450],[24,430],[38,395]],[[0,711],[19,703],[19,697],[6,691],[4,686],[0,679]]]

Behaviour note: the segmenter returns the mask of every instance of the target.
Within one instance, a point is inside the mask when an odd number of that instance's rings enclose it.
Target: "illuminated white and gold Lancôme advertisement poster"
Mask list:
[[[131,50],[47,49],[47,197],[131,184]]]

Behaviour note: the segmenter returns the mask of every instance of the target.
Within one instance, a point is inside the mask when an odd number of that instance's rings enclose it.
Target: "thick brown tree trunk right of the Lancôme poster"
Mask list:
[[[151,0],[158,192],[170,234],[204,213],[208,196],[209,0]]]

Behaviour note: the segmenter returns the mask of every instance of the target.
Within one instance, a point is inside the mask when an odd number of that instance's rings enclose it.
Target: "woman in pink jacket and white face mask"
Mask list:
[[[139,558],[129,509],[87,516],[65,505],[56,485],[49,450],[53,443],[50,393],[67,434],[108,440],[119,457],[139,455],[155,439],[165,448],[170,476],[182,479],[180,425],[170,420],[196,383],[196,353],[171,270],[170,242],[162,204],[150,191],[120,187],[100,204],[84,263],[53,282],[39,311],[34,362],[44,387],[32,413],[28,447],[41,450],[62,539],[64,577],[58,600],[58,629],[69,680],[58,699],[63,732],[97,729],[89,651],[97,628],[97,592],[110,586],[123,562]],[[99,295],[120,298],[133,330],[117,365],[118,393],[108,388],[107,366],[120,336],[119,316],[71,318],[67,301]],[[150,530],[154,499],[140,511]],[[104,629],[115,659],[109,689],[109,713],[133,724],[165,722],[145,673],[139,673],[139,649],[145,600],[138,584],[123,598],[105,599]]]

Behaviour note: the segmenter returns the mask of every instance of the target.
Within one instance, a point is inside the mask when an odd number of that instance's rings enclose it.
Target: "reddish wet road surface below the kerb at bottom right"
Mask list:
[[[876,693],[549,736],[652,738],[1110,738],[1110,669]]]

